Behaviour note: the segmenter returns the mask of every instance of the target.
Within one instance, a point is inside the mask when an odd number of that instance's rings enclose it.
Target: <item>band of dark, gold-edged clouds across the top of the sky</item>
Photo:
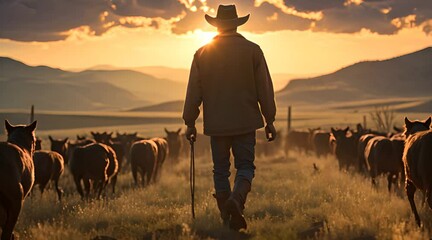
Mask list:
[[[219,0],[0,0],[0,38],[58,41],[76,31],[101,35],[110,28],[160,28],[174,34],[214,30],[204,14],[216,15]],[[420,27],[432,33],[429,0],[237,0],[241,30],[395,34]]]

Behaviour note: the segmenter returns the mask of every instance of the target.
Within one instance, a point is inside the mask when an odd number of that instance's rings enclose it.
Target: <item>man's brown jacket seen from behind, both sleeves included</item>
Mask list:
[[[204,134],[230,136],[273,123],[273,84],[261,48],[238,33],[220,34],[195,53],[183,119],[187,126],[203,108]],[[262,113],[262,114],[261,114]]]

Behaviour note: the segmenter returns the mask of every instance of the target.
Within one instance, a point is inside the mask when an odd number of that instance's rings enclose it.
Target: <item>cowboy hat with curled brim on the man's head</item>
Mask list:
[[[235,5],[219,5],[216,17],[206,14],[205,19],[217,28],[230,29],[245,24],[249,16],[238,17]]]

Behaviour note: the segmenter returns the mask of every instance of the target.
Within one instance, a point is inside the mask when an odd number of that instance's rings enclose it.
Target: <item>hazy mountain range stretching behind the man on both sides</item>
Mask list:
[[[183,107],[186,75],[185,69],[165,67],[127,70],[99,66],[73,72],[0,57],[0,109],[27,109],[34,104],[43,110],[178,112]],[[318,77],[291,80],[276,92],[276,100],[279,107],[339,104],[342,109],[341,103],[357,108],[358,103],[370,105],[374,99],[403,99],[401,103],[410,103],[405,107],[423,111],[431,106],[431,91],[432,47],[428,47],[387,60],[359,62]]]

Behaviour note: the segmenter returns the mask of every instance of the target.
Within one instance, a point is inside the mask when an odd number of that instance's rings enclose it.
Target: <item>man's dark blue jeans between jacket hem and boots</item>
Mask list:
[[[244,179],[252,184],[252,179],[255,176],[255,143],[255,131],[235,136],[210,137],[213,181],[216,193],[231,192],[229,182],[231,149],[234,155],[234,166],[237,169],[234,181]]]

